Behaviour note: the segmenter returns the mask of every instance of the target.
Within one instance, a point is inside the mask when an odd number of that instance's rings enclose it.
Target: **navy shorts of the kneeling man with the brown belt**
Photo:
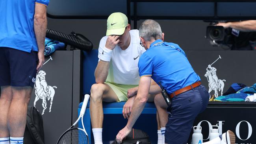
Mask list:
[[[167,108],[165,143],[187,144],[193,122],[206,109],[209,96],[208,90],[200,85],[171,99],[172,104]]]

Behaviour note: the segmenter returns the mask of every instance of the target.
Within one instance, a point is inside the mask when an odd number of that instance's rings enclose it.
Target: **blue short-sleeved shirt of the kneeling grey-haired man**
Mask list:
[[[154,41],[139,58],[139,76],[152,76],[169,94],[200,81],[178,44]]]

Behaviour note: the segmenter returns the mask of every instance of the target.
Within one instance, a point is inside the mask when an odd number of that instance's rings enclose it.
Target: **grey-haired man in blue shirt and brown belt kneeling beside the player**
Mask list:
[[[152,78],[156,83],[161,83],[171,100],[171,105],[167,106],[162,96],[156,96],[154,99],[158,113],[165,109],[169,113],[165,125],[165,143],[186,144],[193,122],[196,116],[206,109],[210,95],[201,85],[199,76],[180,46],[163,42],[164,33],[158,22],[145,20],[139,28],[139,37],[147,50],[141,55],[138,63],[139,90],[127,125],[116,136],[117,142],[121,143],[130,133],[141,114],[147,102]],[[161,115],[159,117],[161,118]],[[225,136],[224,141],[219,137],[208,144],[234,144],[232,131],[228,131]]]

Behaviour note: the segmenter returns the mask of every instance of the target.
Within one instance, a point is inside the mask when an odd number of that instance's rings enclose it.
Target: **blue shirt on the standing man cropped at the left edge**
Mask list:
[[[35,3],[49,0],[0,0],[0,47],[38,51],[34,32]]]

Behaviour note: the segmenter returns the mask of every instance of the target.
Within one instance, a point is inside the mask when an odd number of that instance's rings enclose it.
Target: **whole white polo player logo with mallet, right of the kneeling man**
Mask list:
[[[220,55],[219,55],[218,59],[221,59]],[[215,63],[216,61],[214,61],[213,63]],[[206,74],[204,76],[207,78],[207,81],[208,81],[208,86],[209,86],[208,92],[210,93],[212,90],[214,90],[214,96],[215,96],[215,98],[217,98],[218,97],[218,91],[221,91],[221,96],[222,96],[223,88],[224,88],[224,82],[223,81],[226,81],[226,80],[225,79],[222,79],[222,80],[218,79],[218,76],[217,76],[217,73],[216,73],[217,69],[212,66],[213,63],[211,65],[208,65],[208,67],[206,68]]]

